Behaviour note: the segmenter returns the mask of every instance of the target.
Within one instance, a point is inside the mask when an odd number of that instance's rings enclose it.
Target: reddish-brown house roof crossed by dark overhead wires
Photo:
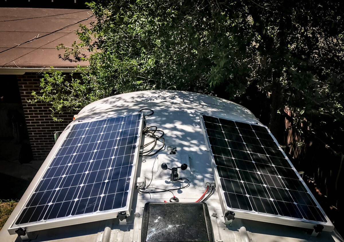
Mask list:
[[[64,50],[55,47],[77,41],[75,31],[79,24],[95,20],[91,14],[85,9],[0,8],[0,68],[86,66],[86,62],[63,61],[58,55]]]

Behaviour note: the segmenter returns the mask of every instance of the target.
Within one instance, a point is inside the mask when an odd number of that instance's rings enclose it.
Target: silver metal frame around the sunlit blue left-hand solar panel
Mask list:
[[[112,209],[112,210],[106,210],[106,211],[99,211],[95,213],[89,213],[89,214],[80,214],[72,217],[64,217],[64,218],[57,218],[57,219],[51,219],[51,220],[44,220],[40,222],[32,222],[32,223],[25,223],[16,225],[15,221],[18,220],[20,214],[25,209],[26,203],[28,203],[32,193],[36,189],[36,187],[39,185],[39,182],[41,181],[43,175],[45,174],[46,170],[49,168],[50,163],[52,162],[53,158],[55,157],[55,154],[60,149],[63,141],[65,140],[66,136],[69,133],[69,130],[75,125],[79,123],[84,122],[93,122],[97,120],[104,120],[104,119],[110,119],[110,118],[117,118],[117,117],[124,117],[128,115],[134,115],[134,114],[141,114],[140,117],[140,123],[139,123],[139,131],[138,131],[138,139],[136,141],[136,148],[135,148],[135,154],[134,154],[134,161],[133,161],[133,168],[131,170],[131,180],[130,180],[130,186],[129,186],[129,192],[127,197],[127,205],[123,208],[118,209]],[[49,155],[46,157],[44,163],[42,164],[41,168],[37,172],[36,176],[34,177],[33,181],[36,181],[36,184],[32,187],[30,190],[29,195],[25,198],[25,202],[23,203],[23,206],[19,210],[18,214],[15,216],[15,219],[13,220],[11,226],[8,228],[9,234],[16,234],[15,230],[19,228],[26,229],[26,232],[32,232],[32,231],[38,231],[38,230],[44,230],[44,229],[52,229],[52,228],[58,228],[58,227],[64,227],[69,225],[75,225],[75,224],[81,224],[81,223],[88,223],[88,222],[95,222],[100,220],[106,220],[106,219],[113,219],[116,218],[119,212],[125,211],[127,215],[130,215],[131,205],[132,205],[132,197],[134,192],[134,186],[136,185],[136,171],[137,171],[137,163],[139,160],[139,150],[141,145],[141,139],[142,139],[142,130],[143,130],[143,119],[144,115],[143,112],[136,112],[136,113],[128,113],[118,116],[112,116],[112,117],[102,117],[97,119],[90,119],[90,120],[82,120],[77,121],[74,120],[71,124],[67,126],[67,128],[63,131],[63,133],[58,138],[57,142],[53,146],[52,150],[50,151]],[[44,166],[44,169],[42,167]],[[29,186],[30,187],[30,186]],[[27,191],[25,191],[26,193]]]

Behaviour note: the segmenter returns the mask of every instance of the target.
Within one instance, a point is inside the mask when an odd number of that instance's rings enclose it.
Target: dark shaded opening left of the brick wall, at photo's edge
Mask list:
[[[28,186],[23,164],[31,160],[17,77],[0,75],[0,199],[20,198]]]

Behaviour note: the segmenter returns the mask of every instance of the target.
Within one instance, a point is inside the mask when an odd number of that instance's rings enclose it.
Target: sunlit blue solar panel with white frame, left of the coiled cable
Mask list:
[[[129,214],[143,118],[140,112],[71,124],[47,156],[9,233]]]

